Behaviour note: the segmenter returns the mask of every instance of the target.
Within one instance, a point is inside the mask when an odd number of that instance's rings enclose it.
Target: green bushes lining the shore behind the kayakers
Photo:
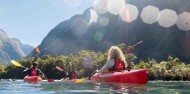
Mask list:
[[[124,50],[125,44],[119,47]],[[126,59],[131,57],[129,61],[133,62],[136,57],[134,54],[125,54]],[[25,67],[31,67],[34,57],[22,59],[18,61]],[[82,50],[78,54],[70,55],[43,55],[38,58],[39,68],[44,72],[47,78],[61,79],[62,72],[55,69],[56,66],[61,67],[64,71],[69,68],[75,68],[80,74],[80,78],[88,77],[96,69],[100,69],[107,60],[107,52],[94,52]],[[190,81],[190,65],[181,62],[178,58],[168,57],[167,61],[157,62],[155,59],[147,59],[146,61],[135,62],[133,69],[149,69],[150,80],[188,80]],[[16,67],[12,64],[8,66],[0,65],[0,78],[2,79],[23,79],[22,71],[24,68]]]

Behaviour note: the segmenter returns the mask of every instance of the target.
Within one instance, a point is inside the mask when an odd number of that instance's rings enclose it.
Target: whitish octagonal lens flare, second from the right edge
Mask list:
[[[176,24],[177,22],[177,13],[170,9],[164,9],[159,13],[158,23],[160,26],[169,28]]]

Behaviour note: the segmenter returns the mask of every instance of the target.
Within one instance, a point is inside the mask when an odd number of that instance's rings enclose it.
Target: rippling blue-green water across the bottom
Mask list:
[[[190,82],[150,81],[147,85],[94,84],[91,81],[71,83],[23,80],[1,80],[0,94],[190,94]]]

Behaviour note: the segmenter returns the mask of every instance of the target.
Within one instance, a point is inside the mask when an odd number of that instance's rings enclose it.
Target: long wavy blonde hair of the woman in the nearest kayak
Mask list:
[[[125,61],[125,57],[121,49],[117,46],[112,46],[108,51],[108,60],[111,59],[120,59],[121,61]]]

